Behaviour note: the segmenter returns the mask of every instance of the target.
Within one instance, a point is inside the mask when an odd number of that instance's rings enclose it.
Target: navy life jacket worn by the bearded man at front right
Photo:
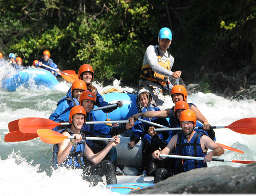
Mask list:
[[[200,132],[195,132],[192,139],[187,143],[186,136],[182,132],[178,132],[177,143],[175,147],[175,152],[177,155],[182,156],[197,156],[204,157],[206,152],[203,152],[200,139],[203,136]],[[207,164],[202,160],[185,160],[176,162],[176,170],[178,169],[179,164],[182,164],[183,171],[189,171],[191,169],[207,167]]]

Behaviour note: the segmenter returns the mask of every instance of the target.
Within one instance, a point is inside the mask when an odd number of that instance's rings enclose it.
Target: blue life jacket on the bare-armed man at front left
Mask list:
[[[70,135],[73,135],[73,132],[70,129],[61,129],[58,132],[59,133],[63,133],[64,131],[67,131],[70,133]],[[57,169],[58,167],[67,167],[67,168],[83,168],[84,166],[84,159],[85,157],[83,156],[83,153],[85,151],[85,142],[79,142],[79,143],[75,143],[75,145],[73,145],[69,156],[67,157],[67,159],[59,164],[57,162],[57,156],[58,156],[58,152],[59,152],[59,146],[58,144],[54,144],[53,146],[53,167],[54,169]]]

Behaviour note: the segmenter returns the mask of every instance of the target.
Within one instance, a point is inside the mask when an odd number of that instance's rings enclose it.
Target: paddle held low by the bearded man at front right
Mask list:
[[[197,156],[180,156],[180,155],[172,155],[172,154],[160,154],[160,157],[169,157],[169,158],[178,158],[178,159],[191,159],[191,160],[204,160],[204,157]],[[232,162],[232,163],[242,163],[242,164],[250,164],[255,163],[256,161],[239,161],[239,160],[226,160],[213,158],[212,161],[220,161],[220,162]]]

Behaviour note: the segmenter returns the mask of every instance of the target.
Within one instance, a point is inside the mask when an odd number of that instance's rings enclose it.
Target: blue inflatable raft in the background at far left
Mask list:
[[[50,89],[58,84],[57,78],[45,69],[24,69],[18,71],[15,75],[2,81],[2,87],[8,91],[16,91],[20,85],[28,88],[31,85],[44,85]]]

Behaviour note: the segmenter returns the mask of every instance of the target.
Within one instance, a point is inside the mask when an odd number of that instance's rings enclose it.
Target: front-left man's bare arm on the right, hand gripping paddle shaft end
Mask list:
[[[93,164],[101,162],[104,159],[104,157],[108,154],[110,149],[113,146],[116,146],[120,143],[120,138],[118,136],[113,136],[112,138],[115,138],[115,141],[109,142],[108,145],[102,151],[96,154],[94,154],[93,151],[89,148],[89,146],[85,143],[84,156]]]

